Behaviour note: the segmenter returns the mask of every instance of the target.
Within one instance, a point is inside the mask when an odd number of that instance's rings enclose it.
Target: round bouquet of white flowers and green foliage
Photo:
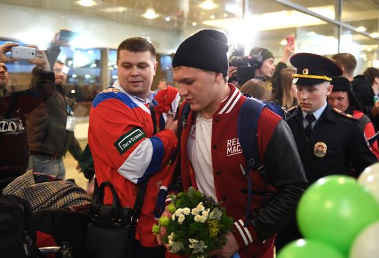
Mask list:
[[[166,227],[163,240],[171,252],[190,258],[205,257],[225,244],[234,223],[225,208],[193,187],[171,197],[167,210],[172,217],[162,217],[158,222]]]

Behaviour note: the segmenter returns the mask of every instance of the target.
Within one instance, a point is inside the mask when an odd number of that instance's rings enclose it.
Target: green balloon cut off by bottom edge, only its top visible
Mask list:
[[[338,250],[314,240],[298,239],[287,244],[277,258],[345,258]]]

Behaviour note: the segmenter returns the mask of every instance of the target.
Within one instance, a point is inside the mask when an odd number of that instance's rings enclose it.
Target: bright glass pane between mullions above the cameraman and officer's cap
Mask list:
[[[312,52],[329,56],[338,52],[338,27],[309,14],[264,0],[249,2],[249,14],[254,21],[254,40],[249,48],[265,47],[276,58],[283,55],[287,36],[294,36],[295,52]]]

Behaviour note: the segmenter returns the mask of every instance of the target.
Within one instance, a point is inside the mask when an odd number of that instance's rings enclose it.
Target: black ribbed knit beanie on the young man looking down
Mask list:
[[[179,45],[172,67],[187,66],[227,76],[227,37],[217,30],[201,30]]]

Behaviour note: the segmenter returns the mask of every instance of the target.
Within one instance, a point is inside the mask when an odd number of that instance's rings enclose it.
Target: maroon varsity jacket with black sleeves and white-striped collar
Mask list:
[[[287,123],[269,109],[263,109],[258,119],[258,149],[269,180],[265,182],[257,171],[249,173],[252,179],[252,200],[251,212],[246,218],[247,178],[241,170],[245,168],[246,160],[237,131],[238,112],[245,96],[234,85],[229,84],[229,87],[229,97],[221,103],[212,117],[211,147],[216,197],[223,201],[228,215],[235,220],[234,236],[240,246],[240,257],[273,257],[274,235],[294,215],[298,198],[303,193],[307,180]],[[196,112],[190,111],[187,125],[181,133],[181,174],[184,190],[189,186],[197,188],[195,171],[187,158],[187,139],[195,120]],[[282,158],[291,160],[284,164]],[[268,200],[263,204],[266,190]],[[291,193],[291,197],[286,197],[287,193]]]

